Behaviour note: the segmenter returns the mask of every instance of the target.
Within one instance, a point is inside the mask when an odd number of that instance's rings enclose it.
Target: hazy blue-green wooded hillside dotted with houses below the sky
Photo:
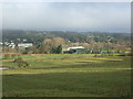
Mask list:
[[[33,44],[42,43],[43,38],[63,37],[71,43],[91,43],[106,42],[119,44],[121,41],[130,42],[130,33],[102,33],[102,32],[63,32],[63,31],[22,31],[22,30],[3,30],[2,41],[22,43],[23,38]],[[19,38],[19,40],[18,40]]]

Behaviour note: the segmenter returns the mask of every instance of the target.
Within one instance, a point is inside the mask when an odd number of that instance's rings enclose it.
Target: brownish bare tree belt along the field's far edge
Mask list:
[[[60,54],[62,53],[62,48],[64,46],[84,46],[88,53],[101,53],[102,51],[120,53],[121,51],[126,52],[131,48],[131,42],[121,41],[119,43],[108,42],[94,42],[90,41],[90,43],[72,43],[66,42],[63,37],[51,37],[43,38],[42,43],[37,44],[32,47],[27,47],[24,51],[21,48],[10,48],[3,47],[3,53],[6,52],[18,52],[23,54]]]

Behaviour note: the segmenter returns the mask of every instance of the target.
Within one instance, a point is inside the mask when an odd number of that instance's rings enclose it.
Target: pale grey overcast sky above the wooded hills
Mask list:
[[[130,32],[130,2],[4,3],[3,29]]]

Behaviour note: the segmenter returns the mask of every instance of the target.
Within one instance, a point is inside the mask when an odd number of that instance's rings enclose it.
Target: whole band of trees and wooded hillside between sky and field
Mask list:
[[[106,50],[126,51],[131,48],[131,35],[129,33],[92,33],[92,32],[62,32],[62,31],[13,31],[3,30],[3,42],[13,41],[16,44],[27,42],[33,43],[34,46],[25,48],[22,53],[34,54],[59,54],[62,53],[63,46],[84,46],[86,51]],[[19,41],[17,38],[20,38]],[[3,52],[20,52],[18,47],[2,47]]]

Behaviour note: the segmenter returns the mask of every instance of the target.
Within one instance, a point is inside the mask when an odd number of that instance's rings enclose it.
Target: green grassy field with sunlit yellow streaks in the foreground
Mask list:
[[[4,97],[122,97],[131,95],[131,57],[92,54],[23,55],[31,66],[3,70]],[[3,59],[3,66],[17,66]]]

